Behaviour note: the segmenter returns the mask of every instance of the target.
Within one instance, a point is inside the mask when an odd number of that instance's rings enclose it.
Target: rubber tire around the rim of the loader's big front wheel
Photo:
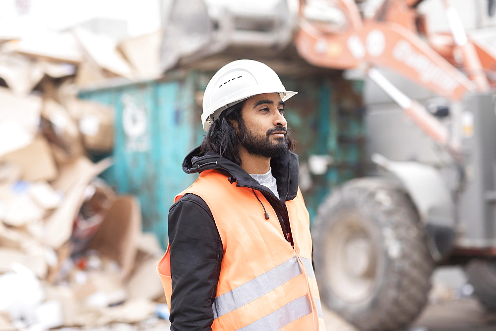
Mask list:
[[[392,199],[387,209],[374,198],[378,191],[383,191]],[[415,320],[426,305],[431,289],[430,277],[434,270],[417,211],[407,193],[388,181],[359,178],[347,182],[333,192],[318,211],[314,225],[316,266],[324,263],[325,257],[318,248],[323,247],[325,233],[332,225],[330,223],[336,221],[333,215],[346,208],[358,208],[362,215],[372,213],[376,216],[371,218],[374,219],[374,225],[381,228],[382,232],[386,227],[391,229],[394,239],[401,244],[402,254],[398,259],[389,258],[385,276],[380,279],[382,283],[378,286],[379,290],[365,310],[350,304],[343,305],[342,302],[336,304],[339,299],[331,294],[328,286],[319,284],[323,288],[323,302],[360,330],[404,328]],[[319,270],[316,269],[317,279],[324,283],[326,276]]]

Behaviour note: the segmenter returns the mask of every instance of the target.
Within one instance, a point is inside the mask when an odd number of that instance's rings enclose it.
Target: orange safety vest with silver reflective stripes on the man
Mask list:
[[[311,264],[309,214],[300,189],[295,199],[286,201],[294,249],[259,191],[255,193],[266,206],[268,220],[250,188],[231,184],[215,170],[202,171],[175,201],[186,193],[208,205],[224,249],[212,330],[325,330]],[[170,246],[157,271],[170,307]]]

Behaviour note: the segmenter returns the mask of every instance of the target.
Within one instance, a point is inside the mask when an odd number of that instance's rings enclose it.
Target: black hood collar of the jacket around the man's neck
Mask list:
[[[276,178],[281,200],[293,200],[298,193],[298,155],[286,151],[270,161],[272,175]],[[265,186],[254,180],[241,166],[217,153],[202,154],[200,147],[195,148],[183,161],[186,173],[199,173],[214,169],[226,176],[226,180],[236,182],[236,186],[246,186],[272,194]]]

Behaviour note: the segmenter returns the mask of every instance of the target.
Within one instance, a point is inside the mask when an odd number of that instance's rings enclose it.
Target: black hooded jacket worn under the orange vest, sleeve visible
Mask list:
[[[278,215],[281,235],[293,243],[285,201],[298,192],[298,156],[286,151],[271,159],[272,174],[277,180],[278,199],[245,170],[217,154],[199,155],[199,148],[183,162],[186,173],[215,169],[236,186],[261,192]],[[261,212],[261,211],[260,211]],[[212,303],[215,299],[222,242],[215,221],[206,203],[194,194],[185,194],[169,210],[169,243],[171,245],[171,330],[211,330]],[[249,234],[241,234],[249,235]],[[268,252],[269,254],[269,252]]]

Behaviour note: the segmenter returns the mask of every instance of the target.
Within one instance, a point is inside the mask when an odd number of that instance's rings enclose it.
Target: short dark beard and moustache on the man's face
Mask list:
[[[242,146],[248,151],[249,154],[263,156],[265,158],[274,158],[288,149],[288,140],[285,135],[283,138],[275,138],[270,141],[270,134],[277,131],[287,132],[285,127],[274,127],[266,132],[265,137],[257,136],[249,131],[243,121],[239,123],[240,134],[242,139]]]

